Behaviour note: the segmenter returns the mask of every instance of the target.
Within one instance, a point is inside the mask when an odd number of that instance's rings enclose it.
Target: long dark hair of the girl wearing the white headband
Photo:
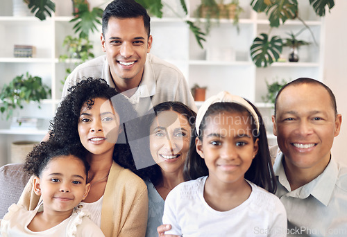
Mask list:
[[[267,143],[264,121],[259,110],[251,102],[248,101],[248,103],[254,108],[259,118],[259,133],[255,134],[255,132],[252,132],[253,141],[255,141],[257,138],[259,139],[259,150],[257,152],[257,155],[255,155],[255,158],[253,159],[250,168],[248,168],[248,170],[246,171],[244,177],[245,179],[256,184],[257,186],[265,188],[270,193],[275,193],[277,184],[271,164],[271,157],[269,152],[269,145]],[[185,163],[185,180],[197,179],[198,177],[208,175],[208,167],[205,164],[205,159],[202,159],[201,156],[198,155],[198,152],[196,152],[195,139],[196,137],[198,137],[198,139],[203,141],[203,131],[206,127],[206,118],[208,118],[208,116],[218,114],[220,112],[246,112],[248,116],[251,117],[250,121],[254,121],[254,118],[251,115],[251,113],[249,113],[245,107],[237,103],[214,103],[213,105],[210,105],[205,116],[203,116],[203,120],[201,121],[201,125],[199,128],[201,133],[199,134],[199,136],[197,135],[196,129],[194,128],[194,138],[191,140],[191,149],[189,150],[189,156],[187,157],[187,161]],[[252,131],[256,130],[255,126],[255,123],[251,123]]]

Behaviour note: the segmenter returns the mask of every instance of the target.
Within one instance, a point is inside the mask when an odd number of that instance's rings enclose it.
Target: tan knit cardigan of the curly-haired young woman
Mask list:
[[[33,191],[33,177],[28,181],[18,204],[33,210],[40,196]],[[106,237],[141,237],[146,234],[148,213],[147,187],[130,170],[113,162],[103,194],[101,230]]]

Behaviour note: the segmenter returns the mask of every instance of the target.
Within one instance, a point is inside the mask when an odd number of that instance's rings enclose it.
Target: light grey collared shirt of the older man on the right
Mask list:
[[[347,167],[334,157],[321,175],[291,191],[280,153],[273,170],[276,195],[285,205],[288,236],[347,236]]]

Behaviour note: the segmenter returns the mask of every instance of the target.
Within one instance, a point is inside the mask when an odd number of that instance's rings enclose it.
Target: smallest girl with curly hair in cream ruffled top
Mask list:
[[[0,224],[0,236],[104,236],[88,213],[77,208],[87,197],[89,164],[73,146],[44,142],[27,156],[24,170],[42,197],[35,210],[12,204]]]

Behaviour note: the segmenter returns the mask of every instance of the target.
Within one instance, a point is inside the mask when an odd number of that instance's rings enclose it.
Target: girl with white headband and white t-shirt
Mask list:
[[[185,179],[165,201],[165,234],[286,236],[266,130],[254,105],[223,91],[203,103]],[[193,149],[196,148],[196,149]]]

